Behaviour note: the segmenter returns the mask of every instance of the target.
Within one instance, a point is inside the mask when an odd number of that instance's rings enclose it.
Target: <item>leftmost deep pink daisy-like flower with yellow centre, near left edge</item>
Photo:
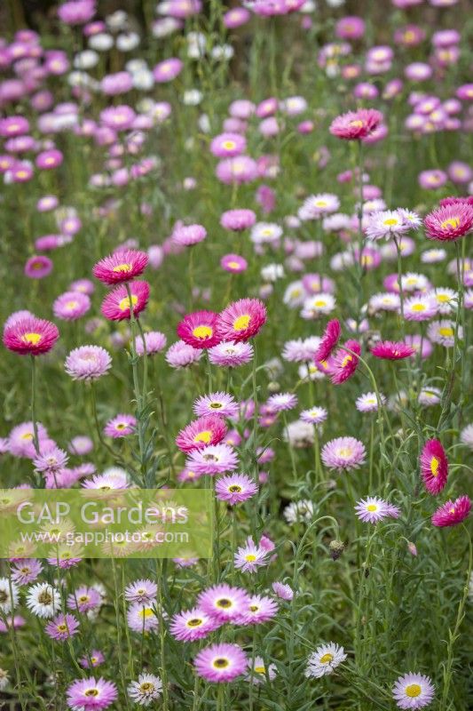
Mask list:
[[[36,316],[24,316],[4,326],[4,346],[20,356],[40,356],[59,339],[58,327]]]

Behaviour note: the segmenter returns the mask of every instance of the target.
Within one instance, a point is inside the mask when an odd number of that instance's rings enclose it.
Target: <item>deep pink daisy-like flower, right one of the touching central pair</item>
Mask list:
[[[245,341],[260,331],[266,322],[266,307],[258,299],[240,299],[224,309],[217,318],[221,340]]]

